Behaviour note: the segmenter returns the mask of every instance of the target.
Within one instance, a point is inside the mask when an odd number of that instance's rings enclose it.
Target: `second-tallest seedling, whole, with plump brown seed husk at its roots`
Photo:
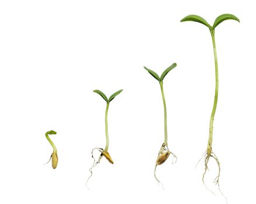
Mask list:
[[[168,142],[167,142],[167,139],[168,139],[168,136],[167,136],[167,110],[166,110],[166,103],[165,103],[165,97],[164,97],[164,87],[163,87],[163,80],[164,80],[165,76],[167,75],[167,73],[169,71],[171,71],[176,66],[177,66],[176,63],[169,66],[167,69],[165,69],[164,72],[162,72],[161,77],[159,77],[157,75],[157,73],[155,73],[154,71],[152,71],[152,70],[146,68],[146,66],[144,66],[144,68],[150,73],[150,75],[152,75],[160,83],[160,88],[161,88],[161,93],[162,93],[162,103],[164,104],[164,143],[162,143],[160,151],[158,152],[157,161],[155,162],[155,169],[154,169],[154,177],[155,177],[155,180],[157,180],[158,184],[160,183],[160,181],[158,180],[157,175],[156,175],[157,166],[164,163],[168,159],[170,154],[172,154],[172,156],[173,156],[172,157],[172,163],[176,163],[176,161],[177,161],[177,157],[175,156],[175,154],[172,153],[168,149]],[[174,159],[175,159],[175,162],[174,162]]]

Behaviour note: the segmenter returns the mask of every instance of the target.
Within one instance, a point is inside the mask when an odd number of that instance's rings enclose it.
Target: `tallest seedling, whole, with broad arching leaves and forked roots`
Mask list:
[[[222,23],[224,20],[229,20],[229,19],[237,20],[238,22],[240,22],[240,20],[232,14],[223,14],[223,15],[218,16],[216,18],[215,22],[213,23],[213,26],[210,26],[210,24],[207,23],[205,19],[203,19],[200,16],[196,16],[196,15],[188,15],[188,16],[184,17],[184,19],[181,20],[181,22],[194,21],[194,22],[204,24],[205,26],[207,26],[209,28],[210,34],[212,36],[213,52],[214,52],[214,57],[215,57],[215,100],[214,100],[214,103],[213,103],[212,114],[210,115],[209,139],[208,139],[208,142],[207,142],[207,149],[206,149],[205,153],[203,154],[203,156],[205,158],[205,172],[203,173],[202,181],[203,181],[203,184],[205,184],[205,181],[204,181],[205,174],[206,174],[206,171],[208,170],[207,164],[209,162],[210,157],[212,157],[216,161],[217,166],[219,168],[219,172],[217,174],[217,177],[214,180],[215,184],[218,185],[219,189],[220,189],[220,186],[219,186],[220,161],[217,158],[216,154],[213,153],[213,150],[212,150],[213,120],[215,118],[215,112],[216,112],[217,100],[218,100],[218,91],[219,91],[218,62],[217,62],[217,52],[216,52],[216,44],[215,44],[215,28],[220,23]]]

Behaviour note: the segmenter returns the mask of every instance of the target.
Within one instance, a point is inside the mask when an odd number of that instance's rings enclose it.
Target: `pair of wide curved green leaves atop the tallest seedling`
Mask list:
[[[237,20],[238,22],[240,22],[240,20],[238,19],[238,17],[234,16],[233,14],[229,14],[229,13],[226,13],[226,14],[223,14],[223,15],[220,15],[218,16],[216,19],[215,19],[215,22],[213,23],[213,26],[210,26],[209,23],[207,23],[207,21],[205,19],[203,19],[202,17],[200,16],[197,16],[197,15],[188,15],[186,17],[184,17],[183,19],[181,19],[181,22],[185,22],[185,21],[194,21],[194,22],[198,22],[198,23],[202,23],[204,24],[205,26],[209,27],[210,31],[212,30],[215,30],[215,28],[220,24],[222,23],[224,20]]]

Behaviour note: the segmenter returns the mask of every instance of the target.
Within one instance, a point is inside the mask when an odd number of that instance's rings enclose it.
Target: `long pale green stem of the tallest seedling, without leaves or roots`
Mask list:
[[[218,92],[219,92],[219,75],[218,75],[218,61],[217,61],[217,52],[215,44],[215,30],[211,31],[212,43],[213,43],[213,52],[215,55],[215,101],[213,103],[212,114],[210,115],[210,127],[209,127],[209,140],[207,144],[207,152],[212,152],[212,138],[213,138],[213,120],[215,119],[215,112],[218,101]]]

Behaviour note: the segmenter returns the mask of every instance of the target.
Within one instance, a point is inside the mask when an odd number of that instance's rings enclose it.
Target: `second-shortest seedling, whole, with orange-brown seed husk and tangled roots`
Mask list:
[[[109,99],[106,97],[106,95],[101,92],[100,90],[94,90],[95,93],[98,93],[105,101],[106,101],[106,111],[105,111],[105,133],[106,133],[106,146],[105,146],[105,149],[103,148],[94,148],[92,150],[92,159],[94,159],[94,164],[92,164],[92,167],[89,168],[89,172],[91,173],[91,175],[89,176],[89,178],[92,177],[92,168],[94,168],[95,166],[97,166],[97,164],[99,164],[99,162],[101,161],[102,157],[104,156],[108,161],[109,163],[113,164],[113,160],[112,158],[110,157],[110,154],[108,152],[108,149],[109,149],[109,133],[108,133],[108,110],[109,110],[109,103],[110,101],[112,101],[119,93],[121,93],[123,91],[123,89],[113,93]],[[96,161],[95,160],[95,157],[94,157],[94,150],[99,150],[99,152],[101,153],[99,155],[99,158],[98,160]],[[89,178],[87,180],[87,183],[89,181]]]

